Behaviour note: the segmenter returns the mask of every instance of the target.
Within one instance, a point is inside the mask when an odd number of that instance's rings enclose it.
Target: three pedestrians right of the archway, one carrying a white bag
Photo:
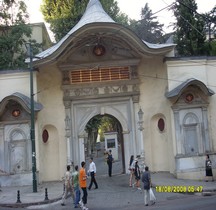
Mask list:
[[[145,206],[149,205],[149,202],[153,205],[155,204],[156,197],[151,189],[151,176],[149,172],[148,166],[145,166],[145,171],[141,174],[139,164],[138,164],[138,158],[134,159],[134,155],[131,155],[130,162],[129,162],[129,170],[130,170],[130,179],[129,179],[129,186],[134,187],[136,185],[138,190],[141,190],[140,188],[140,180],[143,183],[144,188],[144,203]],[[133,178],[135,179],[135,183],[132,184]]]

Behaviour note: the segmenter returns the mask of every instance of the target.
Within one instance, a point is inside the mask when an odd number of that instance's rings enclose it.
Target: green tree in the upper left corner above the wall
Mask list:
[[[22,68],[25,65],[25,37],[31,28],[25,24],[28,15],[21,0],[0,0],[0,70]]]

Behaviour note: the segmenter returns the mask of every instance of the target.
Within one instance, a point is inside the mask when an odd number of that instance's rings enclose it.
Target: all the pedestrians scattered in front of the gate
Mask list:
[[[112,162],[113,157],[111,151],[107,154],[107,165],[108,165],[108,174],[111,177],[112,176]],[[67,170],[65,172],[64,176],[64,194],[62,197],[62,203],[61,205],[65,205],[65,199],[67,197],[68,192],[71,193],[73,201],[74,201],[74,207],[78,208],[79,205],[83,210],[88,210],[86,207],[87,204],[87,177],[88,175],[91,177],[90,184],[88,186],[88,190],[91,190],[92,185],[95,185],[95,189],[98,189],[98,184],[95,179],[96,175],[96,165],[93,162],[93,158],[90,158],[89,160],[89,170],[88,173],[86,173],[85,166],[86,163],[83,161],[81,162],[81,168],[78,170],[78,165],[75,167],[73,166],[73,163],[67,166]],[[74,167],[74,170],[73,170]],[[205,168],[206,168],[206,181],[211,178],[213,181],[213,174],[212,174],[212,163],[209,158],[209,155],[206,155],[206,162],[205,162]],[[140,188],[140,180],[143,183],[144,188],[144,203],[145,206],[148,206],[149,203],[152,205],[155,204],[156,198],[155,195],[151,189],[151,176],[149,172],[148,166],[145,166],[145,171],[143,173],[140,172],[139,164],[138,164],[138,158],[134,158],[133,155],[130,157],[129,162],[129,170],[130,170],[130,179],[129,179],[129,186],[134,187],[136,186],[138,190],[141,190]],[[135,183],[133,184],[133,179],[135,179]],[[80,199],[80,188],[82,189],[82,199]],[[150,202],[149,202],[150,201]]]

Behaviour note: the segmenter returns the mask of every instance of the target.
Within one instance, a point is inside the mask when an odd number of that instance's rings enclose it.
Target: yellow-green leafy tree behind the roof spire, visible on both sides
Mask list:
[[[89,0],[43,0],[41,11],[50,24],[56,41],[59,41],[73,28],[85,12]],[[115,0],[101,0],[104,10],[116,22],[129,23],[128,16],[121,13]]]

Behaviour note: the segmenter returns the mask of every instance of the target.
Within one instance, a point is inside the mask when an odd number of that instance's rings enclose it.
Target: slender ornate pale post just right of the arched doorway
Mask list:
[[[142,109],[140,108],[139,111],[138,111],[138,118],[139,118],[139,121],[138,121],[138,129],[140,131],[140,160],[141,160],[141,170],[144,170],[144,166],[145,166],[145,153],[144,153],[144,144],[143,144],[143,111]]]

